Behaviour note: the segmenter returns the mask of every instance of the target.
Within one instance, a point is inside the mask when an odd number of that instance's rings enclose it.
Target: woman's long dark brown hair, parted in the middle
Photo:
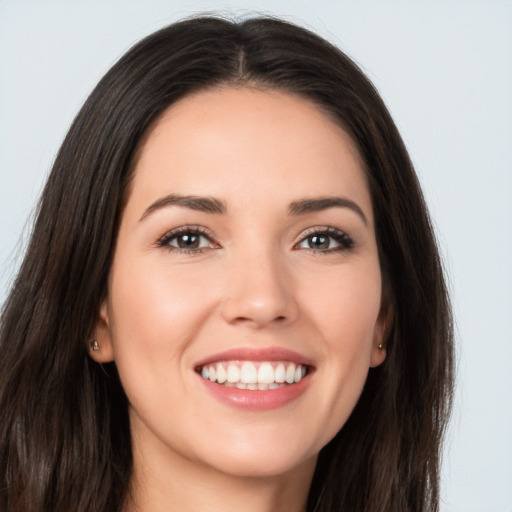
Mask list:
[[[135,152],[173,102],[250,85],[298,94],[351,135],[365,163],[384,295],[387,359],[322,450],[308,510],[438,510],[450,409],[450,306],[425,202],[378,93],[341,51],[269,18],[198,17],[142,40],[74,120],[42,194],[0,326],[0,510],[120,511],[132,471],[113,363],[88,356]]]

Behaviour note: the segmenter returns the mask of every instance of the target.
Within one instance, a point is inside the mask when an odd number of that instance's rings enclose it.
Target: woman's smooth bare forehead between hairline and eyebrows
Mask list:
[[[171,105],[144,138],[132,193],[268,199],[350,195],[370,209],[350,136],[313,102],[224,87]],[[285,200],[285,198],[283,198]]]

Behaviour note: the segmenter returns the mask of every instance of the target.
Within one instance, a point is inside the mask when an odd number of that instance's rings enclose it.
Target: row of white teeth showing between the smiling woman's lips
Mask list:
[[[309,371],[307,365],[289,361],[222,361],[196,368],[203,379],[215,384],[260,391],[296,384]]]

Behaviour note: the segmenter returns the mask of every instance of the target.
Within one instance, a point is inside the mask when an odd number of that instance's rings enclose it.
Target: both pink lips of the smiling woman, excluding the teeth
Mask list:
[[[290,361],[309,367],[308,375],[300,382],[264,391],[223,386],[203,379],[199,373],[197,374],[197,378],[217,400],[232,407],[252,411],[277,409],[296,400],[307,390],[314,370],[313,363],[309,358],[293,350],[279,347],[235,348],[218,352],[199,361],[195,369],[219,361]]]

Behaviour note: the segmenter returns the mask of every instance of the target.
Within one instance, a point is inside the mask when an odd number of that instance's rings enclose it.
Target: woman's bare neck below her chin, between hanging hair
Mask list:
[[[231,475],[169,453],[141,453],[124,512],[305,512],[316,458],[270,476]]]

